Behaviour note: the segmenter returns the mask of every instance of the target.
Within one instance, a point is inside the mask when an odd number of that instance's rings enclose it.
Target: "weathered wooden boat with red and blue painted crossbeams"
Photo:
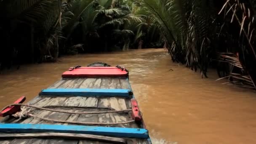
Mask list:
[[[0,143],[151,144],[128,75],[107,64],[69,68],[27,104],[23,96],[0,112]]]

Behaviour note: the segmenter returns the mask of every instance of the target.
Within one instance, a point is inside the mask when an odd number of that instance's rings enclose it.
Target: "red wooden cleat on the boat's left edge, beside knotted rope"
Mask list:
[[[26,100],[25,96],[21,96],[18,100],[16,100],[13,104],[22,104]],[[13,115],[16,112],[19,112],[21,110],[21,106],[11,106],[6,109],[4,109],[2,112],[0,112],[0,117],[5,117],[7,115]]]

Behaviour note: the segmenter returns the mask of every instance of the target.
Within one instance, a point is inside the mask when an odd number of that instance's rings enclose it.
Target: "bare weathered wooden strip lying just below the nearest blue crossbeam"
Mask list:
[[[115,144],[126,143],[125,139],[121,139],[121,138],[89,135],[89,134],[79,134],[79,133],[12,133],[12,134],[6,133],[6,134],[0,135],[0,139],[28,139],[28,138],[40,138],[36,140],[38,142],[41,141],[41,138],[47,138],[47,140],[44,140],[44,142],[48,141],[52,143],[54,141],[54,144],[56,144],[55,142],[57,143],[59,142],[59,140],[56,140],[56,139],[65,139],[65,140],[61,140],[61,142],[64,142],[64,141],[67,142],[67,139],[72,139],[72,140],[75,139],[75,140],[96,140],[96,141],[104,141],[104,142],[110,142]],[[68,141],[70,142],[70,140]]]

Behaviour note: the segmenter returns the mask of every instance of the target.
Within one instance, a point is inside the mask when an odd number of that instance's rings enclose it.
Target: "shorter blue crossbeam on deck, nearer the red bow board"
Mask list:
[[[132,97],[128,89],[54,88],[44,89],[40,96],[120,96]]]

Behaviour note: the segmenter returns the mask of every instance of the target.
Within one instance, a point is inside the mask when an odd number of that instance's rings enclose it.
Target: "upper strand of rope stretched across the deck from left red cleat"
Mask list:
[[[24,106],[24,107],[32,107],[35,109],[41,109],[46,110],[50,112],[60,112],[60,113],[66,113],[66,114],[75,114],[75,115],[93,115],[93,114],[107,114],[107,113],[114,113],[114,112],[130,112],[132,109],[125,109],[125,110],[112,110],[112,111],[102,111],[102,112],[67,112],[64,110],[56,110],[56,109],[48,109],[44,107],[37,107],[29,104],[9,104],[5,108],[3,108],[0,112],[2,112],[4,109],[11,107],[11,106]]]

